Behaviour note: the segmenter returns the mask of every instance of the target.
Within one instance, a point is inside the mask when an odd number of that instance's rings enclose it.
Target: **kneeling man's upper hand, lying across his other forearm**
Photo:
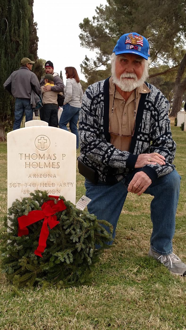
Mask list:
[[[149,159],[149,160],[148,160]],[[148,164],[153,164],[156,165],[165,165],[165,157],[160,155],[157,152],[152,152],[152,153],[141,153],[136,160],[134,168],[141,168],[145,165]]]

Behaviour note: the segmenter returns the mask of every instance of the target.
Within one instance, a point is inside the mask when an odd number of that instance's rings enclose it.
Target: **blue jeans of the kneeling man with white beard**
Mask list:
[[[95,214],[98,219],[107,220],[113,225],[113,239],[127,197],[128,185],[137,171],[138,169],[134,170],[126,179],[114,185],[105,185],[100,181],[95,185],[85,181],[86,196],[92,199],[87,206],[88,211]],[[156,179],[144,192],[154,196],[151,202],[151,221],[153,223],[151,248],[164,255],[172,253],[180,179],[177,171],[173,170],[171,173]],[[108,227],[105,228],[109,230]],[[112,242],[106,244],[112,245]]]

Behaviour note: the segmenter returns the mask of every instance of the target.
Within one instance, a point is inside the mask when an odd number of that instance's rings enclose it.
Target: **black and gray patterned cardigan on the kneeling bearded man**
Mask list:
[[[100,181],[115,184],[134,169],[141,153],[158,152],[166,158],[166,165],[145,165],[140,171],[151,180],[170,173],[176,145],[172,140],[168,118],[169,103],[162,92],[146,83],[151,92],[141,94],[134,136],[130,150],[121,151],[110,143],[109,78],[95,82],[84,94],[79,116],[81,159],[96,170]]]

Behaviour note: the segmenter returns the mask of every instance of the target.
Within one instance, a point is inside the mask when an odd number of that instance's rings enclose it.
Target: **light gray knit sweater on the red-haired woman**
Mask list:
[[[75,108],[81,108],[83,91],[80,82],[76,82],[74,78],[68,78],[64,88],[64,95],[64,103],[69,103]]]

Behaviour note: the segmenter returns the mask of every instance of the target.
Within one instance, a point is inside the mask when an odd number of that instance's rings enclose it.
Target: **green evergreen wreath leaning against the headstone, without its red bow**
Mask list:
[[[66,209],[56,213],[59,223],[49,229],[41,258],[34,250],[38,247],[44,219],[28,225],[28,235],[20,237],[18,218],[33,210],[41,210],[41,206],[47,201],[53,200],[57,204],[60,199]],[[43,285],[45,282],[58,283],[61,286],[89,283],[95,263],[106,247],[104,242],[112,240],[112,234],[100,225],[108,226],[112,232],[109,222],[97,220],[95,215],[77,209],[63,196],[58,200],[49,197],[46,191],[37,190],[22,201],[16,199],[8,210],[8,219],[12,224],[11,227],[8,226],[6,217],[6,230],[1,234],[1,266],[7,279],[17,288]],[[96,244],[101,248],[96,249]]]

